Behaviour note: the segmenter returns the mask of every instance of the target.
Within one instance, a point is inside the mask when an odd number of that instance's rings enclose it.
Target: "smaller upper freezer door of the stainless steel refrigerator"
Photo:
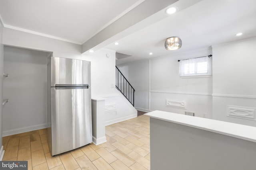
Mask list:
[[[52,57],[51,86],[91,84],[91,62]]]

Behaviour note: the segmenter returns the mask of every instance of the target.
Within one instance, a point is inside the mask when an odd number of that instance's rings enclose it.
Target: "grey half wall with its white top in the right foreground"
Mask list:
[[[188,123],[186,124],[181,117],[165,121],[166,119],[158,119],[157,115],[153,116],[150,117],[152,170],[169,170],[170,167],[174,170],[255,170],[256,143],[253,142],[255,135],[250,134],[252,128],[248,128],[251,130],[248,133],[247,127],[242,128],[241,125],[220,123],[216,128],[214,126],[218,123],[213,120],[207,121],[206,127],[200,126],[208,119],[196,120],[197,124],[189,119],[190,116],[186,116],[188,118],[183,119]],[[235,131],[234,127],[239,127],[239,132],[252,135],[252,141],[250,138],[244,140],[239,135],[236,137],[236,133],[222,134]]]

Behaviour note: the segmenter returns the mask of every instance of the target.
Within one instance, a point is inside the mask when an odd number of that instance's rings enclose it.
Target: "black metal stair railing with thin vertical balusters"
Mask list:
[[[122,72],[116,66],[116,88],[126,97],[126,99],[134,106],[134,88],[124,77]]]

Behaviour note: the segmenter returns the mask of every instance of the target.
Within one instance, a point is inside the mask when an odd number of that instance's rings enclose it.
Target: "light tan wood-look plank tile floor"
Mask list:
[[[27,160],[28,170],[149,170],[149,117],[106,126],[107,142],[51,156],[47,129],[3,137],[3,160]]]

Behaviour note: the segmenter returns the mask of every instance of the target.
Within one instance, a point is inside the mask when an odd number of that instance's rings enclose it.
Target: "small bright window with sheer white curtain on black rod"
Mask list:
[[[211,58],[199,57],[180,61],[180,76],[210,76]]]

